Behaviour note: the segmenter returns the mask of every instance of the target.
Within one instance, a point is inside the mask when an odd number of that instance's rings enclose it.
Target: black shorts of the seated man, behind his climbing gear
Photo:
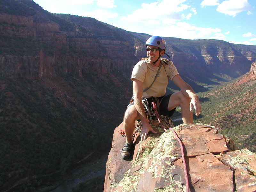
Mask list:
[[[157,97],[157,99],[159,100],[160,102],[160,115],[164,115],[164,116],[169,116],[171,117],[173,115],[173,113],[175,112],[175,109],[172,109],[171,111],[168,111],[168,104],[169,104],[169,100],[170,100],[170,97],[171,97],[172,94],[169,94],[169,95],[164,95],[162,97]],[[152,100],[154,99],[154,102],[156,103],[156,99],[154,97],[150,97],[150,98],[147,98],[148,100],[148,106],[151,108],[152,107]],[[157,103],[156,103],[157,104]],[[132,101],[132,103],[130,103],[127,108],[131,105],[134,105],[134,102]]]

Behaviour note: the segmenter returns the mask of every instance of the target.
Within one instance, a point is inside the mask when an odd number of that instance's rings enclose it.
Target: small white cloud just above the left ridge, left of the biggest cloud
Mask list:
[[[117,13],[107,12],[106,10],[97,9],[92,12],[85,12],[81,16],[92,17],[99,21],[106,22],[108,19],[112,19],[117,16]]]

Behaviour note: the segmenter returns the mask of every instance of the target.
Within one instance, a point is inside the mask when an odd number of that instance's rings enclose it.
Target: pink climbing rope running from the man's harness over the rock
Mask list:
[[[162,122],[160,120],[160,117],[159,117],[159,114],[157,111],[157,107],[156,107],[156,104],[154,101],[152,101],[152,105],[153,105],[153,109],[155,110],[156,117],[157,117],[159,124],[161,124],[161,126],[164,128],[164,131],[168,131],[165,129],[164,125],[162,124]],[[170,127],[169,130],[172,130],[172,133],[174,134],[174,136],[180,143],[180,150],[181,150],[182,162],[183,162],[183,167],[184,167],[184,175],[185,175],[185,181],[186,181],[186,192],[189,192],[188,172],[187,172],[187,166],[186,166],[186,162],[185,162],[183,145],[182,145],[182,142],[181,142],[180,138],[178,137],[177,133],[172,129],[172,127]]]

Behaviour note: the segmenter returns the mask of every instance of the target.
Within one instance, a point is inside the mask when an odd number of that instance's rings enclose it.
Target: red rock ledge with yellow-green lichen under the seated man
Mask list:
[[[135,150],[129,161],[121,158],[125,143],[116,127],[108,155],[104,192],[180,192],[186,191],[179,142],[172,131],[149,134],[140,142],[135,134]],[[183,143],[190,192],[253,192],[256,190],[256,154],[236,150],[233,142],[218,129],[204,124],[174,127]]]

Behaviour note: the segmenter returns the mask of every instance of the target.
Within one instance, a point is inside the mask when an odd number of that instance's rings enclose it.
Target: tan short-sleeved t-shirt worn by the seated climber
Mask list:
[[[166,87],[168,85],[168,79],[172,80],[175,75],[179,74],[172,61],[169,61],[168,65],[166,65],[163,60],[166,62],[168,61],[168,59],[161,58],[160,62],[162,66],[158,76],[156,77],[156,81],[150,87],[150,89],[148,89],[146,92],[143,92],[142,97],[149,98],[164,96]],[[141,60],[134,66],[131,80],[137,79],[142,81],[143,90],[147,89],[154,81],[158,68],[159,67],[152,67],[148,60]]]

